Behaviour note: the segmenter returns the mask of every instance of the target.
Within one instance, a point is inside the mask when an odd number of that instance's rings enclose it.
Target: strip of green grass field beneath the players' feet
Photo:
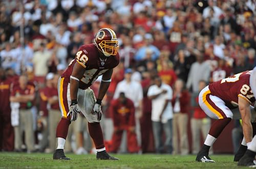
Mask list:
[[[95,155],[67,154],[72,160],[52,160],[52,154],[0,153],[0,168],[247,168],[233,155],[212,155],[216,163],[195,162],[195,155],[116,154],[119,161],[96,160]]]

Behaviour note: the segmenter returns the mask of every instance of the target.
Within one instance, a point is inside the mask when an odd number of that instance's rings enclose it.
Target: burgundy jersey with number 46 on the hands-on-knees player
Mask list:
[[[106,57],[104,61],[101,61],[95,44],[82,45],[76,53],[76,58],[70,62],[61,77],[70,79],[76,62],[85,68],[83,77],[79,81],[79,88],[87,89],[100,75],[119,64],[119,53]]]

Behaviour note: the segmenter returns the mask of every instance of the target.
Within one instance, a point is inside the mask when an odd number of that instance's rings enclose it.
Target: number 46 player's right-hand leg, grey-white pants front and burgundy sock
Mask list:
[[[118,160],[108,153],[106,153],[103,133],[100,126],[100,120],[97,114],[92,114],[93,106],[95,104],[95,96],[91,89],[80,90],[78,89],[78,107],[82,114],[88,120],[89,134],[93,139],[97,151],[96,158],[104,160]]]

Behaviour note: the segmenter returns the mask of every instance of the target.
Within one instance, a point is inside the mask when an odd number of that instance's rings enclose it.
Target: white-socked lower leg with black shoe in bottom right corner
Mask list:
[[[238,165],[240,166],[255,166],[254,162],[256,155],[256,135],[254,135],[251,143],[248,145],[248,150],[245,152],[244,156],[239,160]]]

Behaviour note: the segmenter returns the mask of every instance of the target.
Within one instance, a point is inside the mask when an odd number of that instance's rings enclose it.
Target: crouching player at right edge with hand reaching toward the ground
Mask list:
[[[213,82],[200,92],[200,107],[207,116],[217,119],[217,121],[211,125],[204,145],[197,154],[196,161],[215,162],[208,156],[209,148],[232,118],[242,119],[244,138],[247,146],[250,144],[252,140],[250,104],[255,101],[249,80],[251,72],[245,71]],[[236,108],[239,108],[237,112],[240,112],[240,117],[231,111]]]

